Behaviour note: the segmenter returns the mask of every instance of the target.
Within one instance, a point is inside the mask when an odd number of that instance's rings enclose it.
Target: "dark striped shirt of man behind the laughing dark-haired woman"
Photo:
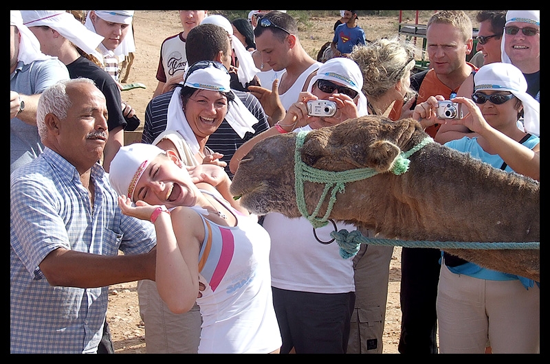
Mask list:
[[[265,111],[256,96],[244,91],[232,91],[241,99],[246,108],[259,122],[252,126],[255,133],[247,132],[245,137],[241,139],[239,134],[237,134],[230,124],[228,124],[227,120],[224,119],[219,128],[208,137],[206,146],[214,152],[223,154],[221,160],[228,163],[225,172],[228,172],[230,178],[233,177],[233,174],[229,170],[229,161],[235,154],[235,151],[242,146],[245,141],[254,137],[254,135],[258,135],[270,128],[270,125],[267,123],[267,115],[265,115]],[[173,92],[174,91],[169,91],[162,95],[158,95],[147,104],[145,109],[142,143],[153,143],[153,141],[166,130],[166,123],[168,122],[168,104],[170,104],[170,98],[172,98]]]

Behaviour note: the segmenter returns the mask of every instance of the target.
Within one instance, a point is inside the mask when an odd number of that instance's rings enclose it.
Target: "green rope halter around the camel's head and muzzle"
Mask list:
[[[294,151],[294,187],[296,190],[296,203],[298,204],[300,214],[307,218],[307,220],[309,220],[309,223],[311,223],[314,228],[318,228],[327,225],[334,203],[336,203],[336,194],[338,192],[345,192],[346,183],[367,179],[369,177],[375,176],[380,172],[377,172],[374,168],[357,168],[353,170],[331,172],[307,166],[307,164],[304,163],[300,157],[300,147],[303,146],[307,133],[309,132],[306,130],[302,130],[296,135],[296,149]],[[393,174],[395,175],[407,172],[408,166],[410,164],[408,157],[410,157],[413,153],[417,152],[432,141],[432,138],[426,137],[426,139],[423,139],[421,143],[419,143],[411,150],[408,150],[408,152],[401,152],[397,157],[395,157],[391,172],[393,172]],[[314,212],[311,215],[307,213],[307,207],[305,205],[305,181],[314,183],[325,183],[325,188],[319,198],[319,203],[317,204]],[[329,192],[330,197],[327,212],[324,216],[319,218],[317,216],[319,215],[321,205],[323,201],[325,201],[325,198],[327,198],[327,194],[329,194]]]

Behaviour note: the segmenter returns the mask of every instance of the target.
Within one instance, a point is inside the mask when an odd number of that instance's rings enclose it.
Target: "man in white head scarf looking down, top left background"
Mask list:
[[[104,37],[98,50],[103,55],[105,71],[118,82],[118,56],[135,52],[132,20],[134,10],[90,10],[85,26]]]

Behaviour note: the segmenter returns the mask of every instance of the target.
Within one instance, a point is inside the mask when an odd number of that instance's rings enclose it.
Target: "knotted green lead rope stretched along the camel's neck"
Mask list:
[[[360,231],[346,229],[331,232],[331,237],[340,247],[340,256],[351,258],[358,253],[360,244],[382,245],[385,247],[437,248],[437,249],[540,249],[540,242],[441,242],[427,240],[397,240],[366,238]]]

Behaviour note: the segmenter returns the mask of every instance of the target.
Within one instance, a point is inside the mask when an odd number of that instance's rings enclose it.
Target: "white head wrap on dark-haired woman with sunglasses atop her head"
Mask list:
[[[192,67],[192,65],[190,66]],[[224,67],[225,68],[225,67]],[[184,86],[194,89],[203,89],[208,91],[233,92],[230,89],[230,76],[225,70],[221,70],[214,65],[207,68],[195,69],[192,73],[186,75]],[[166,130],[176,130],[181,137],[187,141],[193,153],[199,152],[199,142],[195,133],[193,133],[187,118],[183,111],[181,103],[181,90],[175,89],[168,104],[168,121]],[[234,94],[233,94],[234,95]],[[243,138],[246,132],[254,133],[252,125],[258,120],[243,104],[241,99],[234,95],[233,104],[228,107],[228,113],[225,115],[225,121],[235,130],[239,137]]]

